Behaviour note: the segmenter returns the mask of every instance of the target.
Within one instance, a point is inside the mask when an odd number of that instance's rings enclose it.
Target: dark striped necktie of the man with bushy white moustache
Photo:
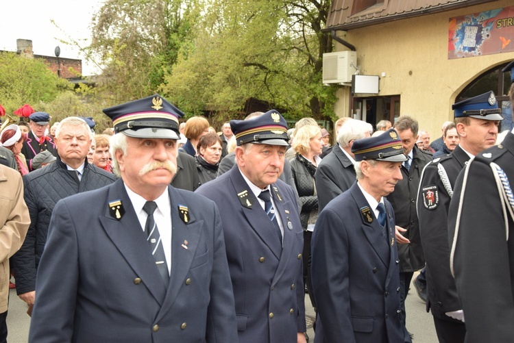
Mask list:
[[[159,229],[157,228],[156,220],[154,219],[154,211],[156,208],[157,204],[155,201],[147,201],[143,206],[143,209],[148,214],[147,223],[145,225],[145,233],[147,234],[147,242],[150,245],[151,254],[154,255],[154,258],[156,259],[156,265],[159,269],[162,281],[164,281],[164,285],[168,287],[168,265],[166,263],[166,256],[164,255],[164,247],[162,246],[162,242],[160,240]]]

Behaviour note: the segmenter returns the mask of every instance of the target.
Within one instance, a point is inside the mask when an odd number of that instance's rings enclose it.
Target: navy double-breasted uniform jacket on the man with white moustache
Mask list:
[[[56,205],[29,342],[236,342],[217,207],[203,196],[168,190],[168,288],[121,179]]]

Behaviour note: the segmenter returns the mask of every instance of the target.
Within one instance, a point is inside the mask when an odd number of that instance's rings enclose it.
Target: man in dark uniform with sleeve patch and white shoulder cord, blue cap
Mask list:
[[[460,143],[426,165],[417,195],[419,233],[426,259],[427,301],[441,342],[464,342],[461,301],[450,272],[448,207],[455,180],[469,159],[495,144],[502,120],[493,92],[452,105]]]

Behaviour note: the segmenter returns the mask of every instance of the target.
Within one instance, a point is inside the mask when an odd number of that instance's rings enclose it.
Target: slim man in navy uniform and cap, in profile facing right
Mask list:
[[[404,342],[393,207],[406,160],[394,129],[352,144],[357,182],[321,211],[312,240],[315,342]]]

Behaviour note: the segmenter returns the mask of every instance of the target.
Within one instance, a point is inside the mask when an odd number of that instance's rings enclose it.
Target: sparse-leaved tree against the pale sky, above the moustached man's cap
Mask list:
[[[98,94],[121,103],[156,92],[198,13],[197,0],[107,0],[93,17],[88,47],[101,61]]]

